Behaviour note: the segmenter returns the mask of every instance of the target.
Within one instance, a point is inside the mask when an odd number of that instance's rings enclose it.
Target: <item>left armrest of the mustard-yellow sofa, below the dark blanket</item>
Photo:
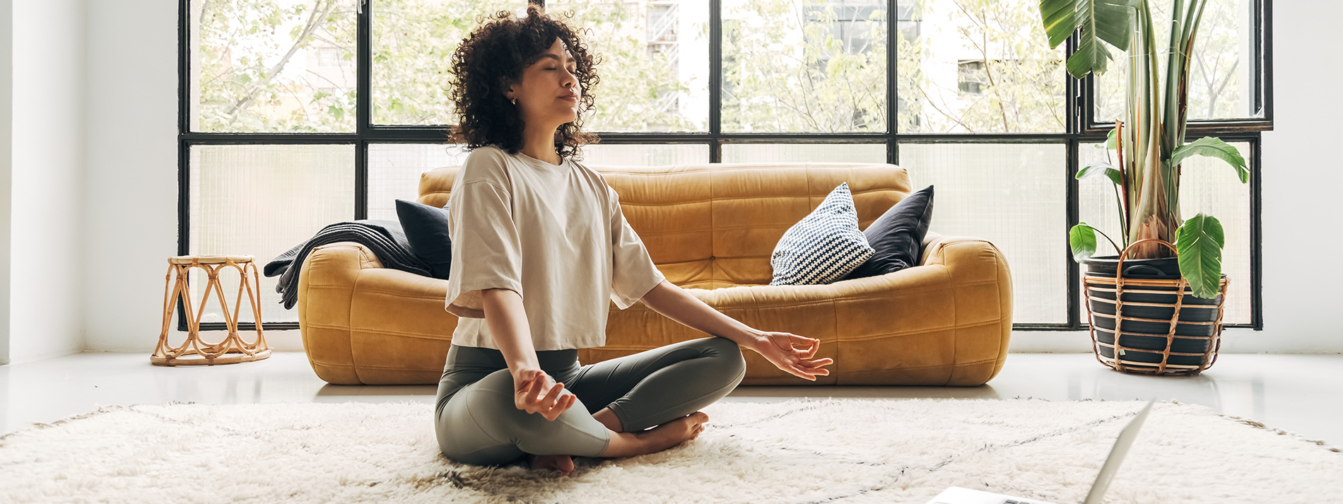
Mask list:
[[[294,305],[298,329],[309,364],[328,383],[360,383],[351,351],[351,301],[360,273],[381,267],[377,255],[356,242],[313,247],[304,259]]]

